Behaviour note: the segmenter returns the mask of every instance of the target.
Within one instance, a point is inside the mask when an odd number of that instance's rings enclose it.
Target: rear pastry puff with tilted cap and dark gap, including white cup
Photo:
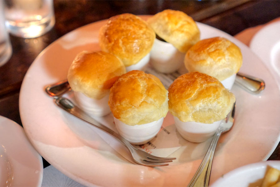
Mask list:
[[[172,73],[184,66],[184,55],[200,39],[192,17],[181,11],[164,10],[147,20],[158,36],[150,63],[161,73]]]

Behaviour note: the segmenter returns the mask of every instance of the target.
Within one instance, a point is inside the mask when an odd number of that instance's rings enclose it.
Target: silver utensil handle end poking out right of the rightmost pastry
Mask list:
[[[236,74],[235,83],[253,94],[260,93],[265,86],[264,80],[243,73]]]

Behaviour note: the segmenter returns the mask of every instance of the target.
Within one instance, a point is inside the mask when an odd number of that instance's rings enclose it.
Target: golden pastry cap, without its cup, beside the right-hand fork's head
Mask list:
[[[182,122],[213,123],[230,112],[235,96],[218,79],[199,72],[183,74],[168,89],[169,111]]]

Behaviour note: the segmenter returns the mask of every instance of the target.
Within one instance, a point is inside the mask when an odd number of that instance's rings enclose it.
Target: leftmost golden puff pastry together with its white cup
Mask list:
[[[70,65],[67,79],[78,106],[97,117],[110,113],[110,88],[124,73],[125,66],[116,56],[103,51],[82,51]]]

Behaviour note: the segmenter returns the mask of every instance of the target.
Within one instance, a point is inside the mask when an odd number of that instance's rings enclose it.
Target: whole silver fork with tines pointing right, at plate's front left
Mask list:
[[[168,162],[172,162],[172,160],[175,160],[176,158],[163,158],[158,156],[152,156],[148,154],[145,151],[141,151],[135,147],[133,147],[126,139],[121,137],[118,133],[114,132],[110,128],[102,125],[101,123],[97,122],[94,118],[90,117],[88,114],[86,114],[84,111],[82,111],[80,108],[75,106],[69,99],[58,97],[55,98],[55,104],[62,108],[63,110],[67,111],[68,113],[72,114],[73,116],[76,116],[83,121],[100,128],[101,130],[107,132],[108,134],[112,135],[119,141],[121,141],[124,146],[127,147],[129,152],[131,153],[133,160],[140,165],[150,166],[150,167],[156,167],[156,166],[166,166],[169,165]]]

